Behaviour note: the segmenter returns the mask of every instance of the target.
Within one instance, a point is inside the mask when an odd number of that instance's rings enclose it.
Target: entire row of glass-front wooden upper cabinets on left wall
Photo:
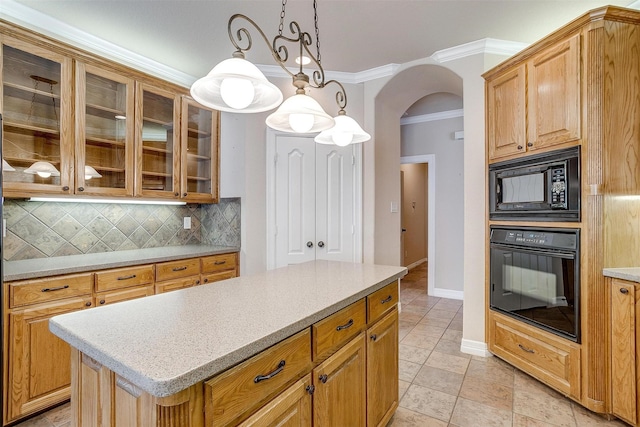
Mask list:
[[[10,24],[0,41],[5,197],[218,202],[218,111]]]

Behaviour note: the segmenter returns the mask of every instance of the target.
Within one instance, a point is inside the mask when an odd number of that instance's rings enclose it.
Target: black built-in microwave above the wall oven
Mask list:
[[[580,147],[489,165],[489,219],[580,221]]]

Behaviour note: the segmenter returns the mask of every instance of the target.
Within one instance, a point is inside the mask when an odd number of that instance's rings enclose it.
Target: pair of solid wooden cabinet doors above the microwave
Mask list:
[[[489,161],[580,139],[580,34],[487,77]]]

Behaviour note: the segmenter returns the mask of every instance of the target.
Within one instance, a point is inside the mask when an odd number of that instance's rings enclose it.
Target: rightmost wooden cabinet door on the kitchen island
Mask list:
[[[367,427],[386,426],[398,408],[398,350],[398,309],[394,305],[367,330]]]

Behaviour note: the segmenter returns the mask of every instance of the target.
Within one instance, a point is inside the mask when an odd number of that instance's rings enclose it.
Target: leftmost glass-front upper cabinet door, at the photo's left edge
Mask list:
[[[70,193],[71,58],[10,37],[0,40],[4,194]]]

